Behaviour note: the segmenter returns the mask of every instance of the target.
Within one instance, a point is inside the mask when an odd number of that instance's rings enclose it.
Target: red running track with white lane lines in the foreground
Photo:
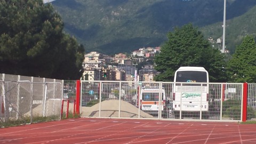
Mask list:
[[[256,124],[77,118],[0,129],[0,143],[256,143]]]

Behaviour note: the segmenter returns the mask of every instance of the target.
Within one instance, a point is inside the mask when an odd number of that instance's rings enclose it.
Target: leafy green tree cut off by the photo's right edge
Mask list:
[[[256,79],[256,44],[252,35],[246,36],[238,45],[233,57],[228,61],[229,82],[255,83]]]

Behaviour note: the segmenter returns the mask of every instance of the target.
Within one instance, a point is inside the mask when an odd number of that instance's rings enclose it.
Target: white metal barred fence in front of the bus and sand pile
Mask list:
[[[242,121],[243,83],[82,81],[81,116]],[[247,120],[255,116],[248,86]]]

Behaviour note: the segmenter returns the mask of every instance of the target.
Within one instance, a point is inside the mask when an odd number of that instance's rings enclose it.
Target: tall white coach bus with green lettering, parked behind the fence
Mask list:
[[[203,67],[180,67],[173,84],[174,112],[209,110],[209,74]]]

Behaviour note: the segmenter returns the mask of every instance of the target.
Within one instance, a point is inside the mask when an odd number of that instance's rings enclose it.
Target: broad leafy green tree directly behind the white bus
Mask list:
[[[156,81],[173,81],[179,67],[198,66],[209,72],[210,82],[225,82],[224,56],[219,50],[213,49],[191,23],[175,28],[167,37],[169,40],[155,58],[155,69],[161,72],[155,77]]]

